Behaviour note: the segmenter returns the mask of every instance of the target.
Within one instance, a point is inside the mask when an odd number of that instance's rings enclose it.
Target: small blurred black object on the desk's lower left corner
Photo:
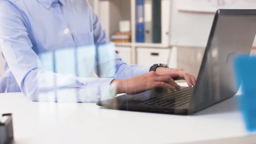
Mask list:
[[[12,114],[3,114],[2,121],[0,121],[0,144],[12,144],[13,139]]]

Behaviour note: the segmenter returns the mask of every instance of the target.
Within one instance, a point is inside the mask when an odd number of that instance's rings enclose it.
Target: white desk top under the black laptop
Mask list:
[[[89,103],[32,102],[0,94],[0,113],[13,113],[16,144],[253,144],[230,98],[192,116],[118,111]]]

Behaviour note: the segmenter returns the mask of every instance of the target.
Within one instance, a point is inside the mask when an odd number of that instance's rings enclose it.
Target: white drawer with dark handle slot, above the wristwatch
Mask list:
[[[137,48],[137,64],[151,66],[155,63],[168,64],[171,49]]]

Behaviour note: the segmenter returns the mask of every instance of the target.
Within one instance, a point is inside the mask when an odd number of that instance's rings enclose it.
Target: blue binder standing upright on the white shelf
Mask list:
[[[136,0],[136,42],[144,43],[144,0]]]

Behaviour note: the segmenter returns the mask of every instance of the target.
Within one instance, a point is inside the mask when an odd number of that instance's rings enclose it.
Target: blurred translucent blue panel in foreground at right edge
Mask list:
[[[242,82],[240,108],[249,131],[256,131],[256,56],[239,56],[235,60],[237,87]]]

